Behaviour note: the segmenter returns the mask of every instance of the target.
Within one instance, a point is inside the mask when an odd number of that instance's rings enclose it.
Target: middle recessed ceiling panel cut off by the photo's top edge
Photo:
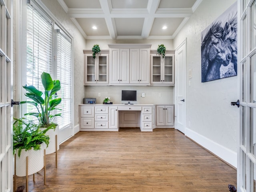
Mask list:
[[[111,0],[111,4],[114,9],[147,8],[148,0]]]

